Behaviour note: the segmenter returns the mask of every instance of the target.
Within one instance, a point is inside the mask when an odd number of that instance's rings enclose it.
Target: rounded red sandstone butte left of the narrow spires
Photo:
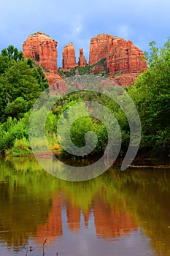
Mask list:
[[[31,57],[44,68],[50,84],[61,79],[57,72],[57,44],[57,41],[42,32],[31,34],[23,42],[23,56]]]

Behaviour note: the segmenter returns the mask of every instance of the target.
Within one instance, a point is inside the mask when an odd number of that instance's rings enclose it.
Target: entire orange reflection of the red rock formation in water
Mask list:
[[[48,216],[47,223],[37,227],[37,244],[43,244],[45,238],[47,238],[47,243],[53,242],[56,237],[63,235],[61,219],[63,205],[66,206],[69,230],[75,233],[79,232],[81,208],[70,203],[69,198],[65,201],[55,195],[53,208]],[[94,199],[92,211],[98,238],[117,238],[137,230],[136,224],[131,216],[128,215],[124,204],[122,204],[121,210],[117,211],[115,206],[109,206],[102,199],[100,201]],[[83,212],[85,227],[88,227],[90,212],[91,208]]]

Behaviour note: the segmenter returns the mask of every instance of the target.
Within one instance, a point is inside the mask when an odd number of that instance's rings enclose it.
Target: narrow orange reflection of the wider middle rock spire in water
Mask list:
[[[66,214],[69,229],[78,233],[80,230],[80,208],[66,203]]]

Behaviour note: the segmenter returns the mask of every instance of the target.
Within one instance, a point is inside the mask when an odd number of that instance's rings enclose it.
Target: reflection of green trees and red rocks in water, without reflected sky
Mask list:
[[[61,211],[66,208],[68,227],[76,233],[80,214],[86,227],[93,214],[98,238],[130,234],[140,226],[152,248],[169,255],[168,171],[110,169],[76,183],[50,176],[34,159],[1,161],[1,170],[0,239],[8,246],[19,249],[31,236],[37,244],[62,236]]]

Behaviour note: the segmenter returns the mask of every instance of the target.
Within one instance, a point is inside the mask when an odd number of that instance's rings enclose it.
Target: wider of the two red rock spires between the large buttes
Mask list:
[[[74,45],[72,42],[70,42],[69,45],[65,45],[63,48],[62,64],[63,68],[72,68],[77,66]]]

